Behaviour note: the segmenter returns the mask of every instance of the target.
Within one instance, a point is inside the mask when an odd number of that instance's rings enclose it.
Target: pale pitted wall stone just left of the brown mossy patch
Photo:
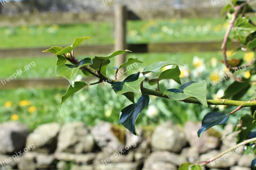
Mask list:
[[[124,150],[124,144],[114,135],[112,125],[108,122],[100,122],[95,125],[92,129],[92,135],[103,152],[111,155],[116,150]]]

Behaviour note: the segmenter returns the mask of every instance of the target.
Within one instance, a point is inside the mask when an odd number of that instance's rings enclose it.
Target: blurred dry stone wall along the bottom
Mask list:
[[[214,130],[198,138],[200,127],[195,122],[184,128],[165,122],[154,130],[138,128],[141,139],[108,122],[94,127],[83,122],[49,123],[30,134],[19,122],[5,122],[0,124],[0,169],[177,170],[184,162],[206,161],[236,144],[234,135],[220,142],[221,135]],[[222,137],[232,125],[224,131]],[[242,152],[238,148],[207,168],[249,170],[254,158]]]

